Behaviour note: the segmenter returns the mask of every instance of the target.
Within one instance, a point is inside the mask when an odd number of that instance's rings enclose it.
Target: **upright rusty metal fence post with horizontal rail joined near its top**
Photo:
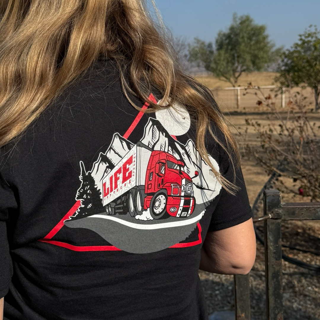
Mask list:
[[[278,190],[264,191],[265,268],[267,294],[267,320],[283,320],[282,248],[281,248],[281,197]]]

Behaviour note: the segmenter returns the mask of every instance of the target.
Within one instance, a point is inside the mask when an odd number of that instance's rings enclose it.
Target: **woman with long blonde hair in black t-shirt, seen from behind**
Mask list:
[[[207,319],[255,258],[239,154],[140,0],[7,0],[0,315]],[[0,318],[1,318],[0,317]]]

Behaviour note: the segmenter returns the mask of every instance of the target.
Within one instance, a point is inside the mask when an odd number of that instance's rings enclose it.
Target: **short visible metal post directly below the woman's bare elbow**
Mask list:
[[[235,282],[236,320],[251,320],[249,274],[245,276],[235,275],[234,282]]]

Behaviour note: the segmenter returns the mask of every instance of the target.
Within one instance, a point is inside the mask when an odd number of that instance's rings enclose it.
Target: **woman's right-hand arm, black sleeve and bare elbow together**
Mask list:
[[[211,222],[201,249],[200,269],[222,274],[246,274],[252,268],[256,240],[244,178],[240,167],[221,151],[220,172],[239,188],[235,194],[221,189],[216,201],[207,207]]]

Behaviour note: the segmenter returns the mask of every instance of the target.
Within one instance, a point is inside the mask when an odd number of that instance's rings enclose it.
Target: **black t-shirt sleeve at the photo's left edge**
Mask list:
[[[0,298],[8,293],[13,272],[6,221],[9,212],[16,207],[13,191],[0,177]]]

